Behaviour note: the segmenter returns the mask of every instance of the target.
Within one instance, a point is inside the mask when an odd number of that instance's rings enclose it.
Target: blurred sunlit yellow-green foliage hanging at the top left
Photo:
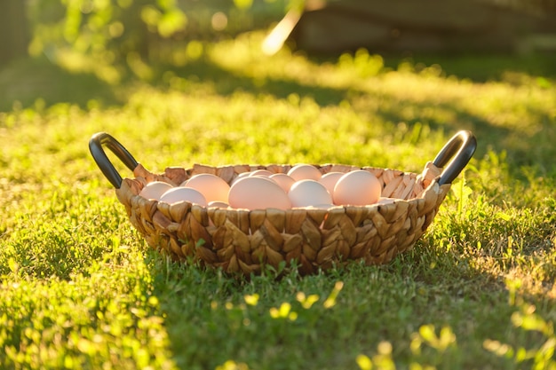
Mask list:
[[[299,0],[30,0],[32,56],[107,83],[198,58],[199,41],[268,28]],[[201,50],[201,51],[200,51]],[[176,58],[176,54],[182,57]]]

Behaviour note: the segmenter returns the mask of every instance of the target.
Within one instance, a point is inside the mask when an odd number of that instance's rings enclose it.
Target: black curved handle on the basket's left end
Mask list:
[[[119,189],[122,185],[122,177],[108,159],[102,146],[106,146],[110,149],[128,169],[135,169],[139,163],[135,161],[135,158],[133,158],[130,152],[128,152],[118,140],[111,137],[106,132],[99,132],[91,137],[91,140],[89,140],[89,150],[91,151],[92,158],[97,162],[99,169],[104,176],[107,177],[108,181],[110,181],[110,184],[114,185],[116,189]]]

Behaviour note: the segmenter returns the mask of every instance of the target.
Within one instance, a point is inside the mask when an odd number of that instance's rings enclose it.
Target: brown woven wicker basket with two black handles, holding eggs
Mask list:
[[[99,169],[115,186],[131,224],[147,243],[176,260],[193,258],[225,272],[258,273],[265,265],[298,267],[301,274],[346,264],[385,264],[412,248],[433,222],[454,178],[473,156],[476,140],[469,131],[459,131],[420,174],[395,169],[363,167],[382,184],[382,196],[396,198],[389,204],[338,206],[331,209],[218,209],[181,201],[168,204],[139,195],[144,185],[165,181],[179,185],[199,173],[222,177],[230,184],[245,171],[268,169],[287,172],[291,165],[234,165],[191,169],[168,168],[154,174],[107,133],[93,135],[89,143]],[[108,160],[110,149],[133,171],[123,179]],[[449,164],[445,166],[448,161]],[[315,165],[322,174],[348,172],[361,167]]]

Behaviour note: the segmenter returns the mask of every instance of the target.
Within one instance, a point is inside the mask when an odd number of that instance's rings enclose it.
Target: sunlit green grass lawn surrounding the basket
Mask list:
[[[269,58],[258,42],[207,44],[150,84],[110,86],[41,60],[0,71],[0,367],[556,368],[554,64]],[[416,248],[282,279],[234,279],[149,249],[87,147],[107,131],[154,171],[418,172],[457,130],[473,130],[478,150]]]

